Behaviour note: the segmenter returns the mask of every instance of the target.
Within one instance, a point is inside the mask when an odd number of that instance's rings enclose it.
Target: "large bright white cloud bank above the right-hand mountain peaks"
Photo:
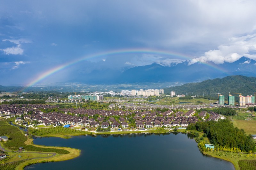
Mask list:
[[[232,37],[229,41],[228,45],[220,45],[218,49],[209,50],[204,53],[204,56],[192,59],[189,65],[196,62],[233,63],[242,56],[256,60],[256,55],[251,54],[251,52],[256,51],[256,33]]]

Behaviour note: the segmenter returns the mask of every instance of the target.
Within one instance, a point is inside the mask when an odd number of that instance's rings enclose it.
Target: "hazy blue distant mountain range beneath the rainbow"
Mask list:
[[[81,83],[136,83],[136,82],[199,82],[207,79],[223,78],[229,75],[256,77],[256,61],[241,57],[233,63],[194,63],[184,61],[172,66],[153,63],[125,70],[101,68],[89,74],[78,73],[69,82]]]

